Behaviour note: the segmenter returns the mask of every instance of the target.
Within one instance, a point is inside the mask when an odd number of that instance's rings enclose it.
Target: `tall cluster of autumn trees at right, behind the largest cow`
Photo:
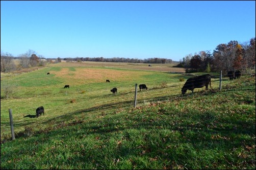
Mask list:
[[[243,44],[239,44],[238,41],[219,44],[213,53],[200,51],[194,55],[187,55],[177,66],[185,67],[187,73],[255,70],[255,38]]]

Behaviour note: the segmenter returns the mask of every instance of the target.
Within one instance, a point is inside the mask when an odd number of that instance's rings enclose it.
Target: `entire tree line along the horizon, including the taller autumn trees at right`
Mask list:
[[[13,59],[18,59],[18,64],[14,64]],[[132,63],[173,63],[171,59],[166,58],[123,58],[123,57],[76,57],[76,58],[44,58],[37,55],[35,51],[28,50],[16,57],[10,53],[4,53],[1,50],[1,72],[11,72],[20,69],[26,69],[35,66],[44,66],[47,62],[64,61],[96,61],[96,62],[132,62]],[[194,55],[185,56],[177,67],[184,67],[187,73],[191,72],[218,72],[239,69],[255,70],[255,38],[249,42],[239,44],[238,41],[230,41],[227,44],[219,44],[213,53],[210,51],[200,51]]]

